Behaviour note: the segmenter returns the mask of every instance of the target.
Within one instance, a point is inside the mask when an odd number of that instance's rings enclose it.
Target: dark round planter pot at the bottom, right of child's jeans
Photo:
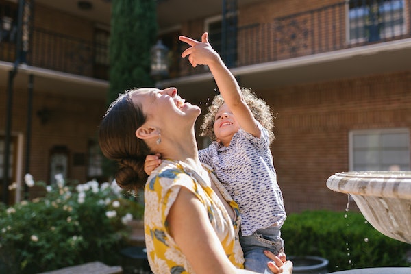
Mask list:
[[[324,274],[328,273],[328,260],[318,256],[287,256],[293,264],[293,274]]]

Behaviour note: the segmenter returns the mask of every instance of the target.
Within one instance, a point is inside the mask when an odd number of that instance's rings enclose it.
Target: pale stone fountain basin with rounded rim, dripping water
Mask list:
[[[327,187],[351,195],[365,219],[379,232],[411,243],[411,172],[336,173],[327,179]]]

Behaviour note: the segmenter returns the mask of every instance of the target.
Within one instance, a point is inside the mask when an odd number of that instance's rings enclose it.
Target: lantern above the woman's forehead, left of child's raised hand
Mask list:
[[[160,81],[169,76],[169,49],[158,40],[151,48],[151,77]]]

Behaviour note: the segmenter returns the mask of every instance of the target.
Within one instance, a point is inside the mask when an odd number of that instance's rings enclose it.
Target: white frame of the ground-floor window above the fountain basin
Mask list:
[[[356,166],[354,166],[354,137],[359,135],[378,135],[382,136],[383,134],[408,134],[408,143],[406,144],[408,153],[408,167],[406,169],[402,169],[402,171],[410,171],[410,130],[408,128],[395,128],[395,129],[366,129],[366,130],[352,130],[349,132],[349,170],[356,171]],[[378,151],[381,151],[382,146],[379,146]],[[380,157],[381,155],[379,155]],[[382,158],[379,158],[379,162],[381,162]],[[397,170],[397,163],[393,163],[391,165],[391,169],[387,169],[385,171],[396,171]]]

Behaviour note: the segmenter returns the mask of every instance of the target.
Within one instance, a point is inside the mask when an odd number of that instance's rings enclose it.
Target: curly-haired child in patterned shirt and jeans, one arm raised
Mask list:
[[[245,269],[264,273],[269,258],[265,250],[284,251],[280,228],[286,219],[282,192],[277,184],[270,144],[273,136],[271,108],[250,90],[240,89],[234,75],[203,34],[201,42],[181,36],[189,47],[182,53],[192,66],[208,64],[221,95],[217,95],[201,126],[212,144],[199,151],[199,159],[214,169],[217,177],[240,208],[240,244]],[[212,60],[210,62],[210,60]],[[219,64],[219,65],[214,65]],[[228,73],[227,73],[228,72]],[[219,81],[221,75],[229,81]],[[158,166],[160,155],[147,157],[145,171]]]

